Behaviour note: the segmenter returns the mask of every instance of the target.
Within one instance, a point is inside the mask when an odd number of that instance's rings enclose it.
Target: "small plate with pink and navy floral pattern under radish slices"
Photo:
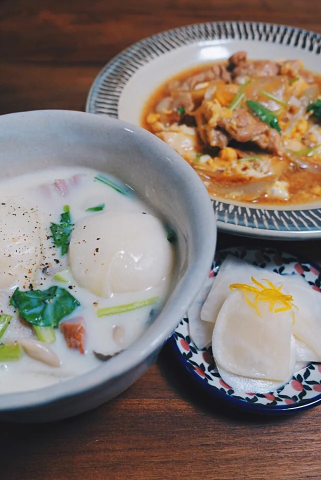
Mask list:
[[[216,252],[209,277],[217,274],[227,254],[234,255],[261,268],[268,268],[280,274],[301,275],[311,288],[320,290],[321,268],[314,264],[298,263],[287,253],[271,248],[247,250],[228,248]],[[220,377],[212,357],[211,347],[197,349],[189,337],[188,317],[178,324],[168,340],[176,358],[203,389],[204,394],[220,398],[224,402],[255,413],[288,414],[312,408],[321,403],[321,363],[310,363],[284,385],[268,393],[233,390]]]

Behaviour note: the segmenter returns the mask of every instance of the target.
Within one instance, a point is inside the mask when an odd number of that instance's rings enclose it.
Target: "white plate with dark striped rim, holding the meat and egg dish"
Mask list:
[[[145,38],[115,56],[100,71],[88,94],[86,111],[140,125],[143,105],[166,78],[191,66],[226,59],[237,50],[252,58],[301,58],[319,64],[321,35],[271,23],[200,23]],[[306,239],[321,237],[321,203],[253,207],[213,200],[217,227],[247,236]]]

